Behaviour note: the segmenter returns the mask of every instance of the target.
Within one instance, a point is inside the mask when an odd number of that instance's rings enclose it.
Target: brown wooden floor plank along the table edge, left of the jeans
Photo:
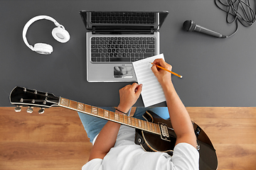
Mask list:
[[[1,108],[0,108],[1,109]],[[11,142],[82,142],[87,140],[78,113],[65,108],[50,108],[39,115],[15,113],[13,108],[0,113],[1,141]]]

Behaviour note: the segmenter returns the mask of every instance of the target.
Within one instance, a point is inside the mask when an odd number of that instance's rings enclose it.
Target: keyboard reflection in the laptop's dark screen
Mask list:
[[[152,12],[92,12],[92,23],[144,23],[153,24]]]

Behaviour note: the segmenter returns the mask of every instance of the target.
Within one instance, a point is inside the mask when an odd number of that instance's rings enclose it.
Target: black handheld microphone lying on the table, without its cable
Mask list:
[[[183,23],[183,30],[186,30],[186,31],[197,31],[199,33],[205,33],[207,35],[212,35],[216,38],[228,38],[228,36],[226,35],[222,35],[220,33],[217,33],[213,30],[209,30],[207,28],[203,28],[202,26],[199,26],[197,25],[194,21],[185,21]]]

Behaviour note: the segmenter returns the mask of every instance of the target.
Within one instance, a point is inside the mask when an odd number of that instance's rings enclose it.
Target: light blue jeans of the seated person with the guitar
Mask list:
[[[115,108],[112,107],[101,107],[108,111],[115,111]],[[157,107],[157,108],[136,108],[136,111],[134,113],[134,118],[138,118],[141,120],[144,120],[142,115],[146,111],[153,111],[157,115],[159,115],[161,118],[169,119],[169,111],[167,107]],[[87,115],[85,113],[78,112],[78,115],[80,117],[80,120],[82,122],[82,125],[85,128],[85,131],[87,133],[87,136],[90,138],[90,142],[92,142],[97,134],[100,133],[100,130],[105,126],[108,120],[97,118],[92,115]]]

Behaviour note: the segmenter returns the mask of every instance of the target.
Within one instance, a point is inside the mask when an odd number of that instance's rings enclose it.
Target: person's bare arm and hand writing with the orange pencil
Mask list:
[[[191,144],[193,147],[196,147],[196,135],[193,131],[191,119],[181,99],[178,97],[176,90],[174,89],[174,85],[171,82],[171,73],[166,72],[163,69],[158,69],[155,64],[169,70],[171,70],[171,65],[167,64],[162,59],[156,59],[151,69],[164,89],[171,125],[173,126],[174,132],[177,135],[176,145],[181,142],[186,142]]]

